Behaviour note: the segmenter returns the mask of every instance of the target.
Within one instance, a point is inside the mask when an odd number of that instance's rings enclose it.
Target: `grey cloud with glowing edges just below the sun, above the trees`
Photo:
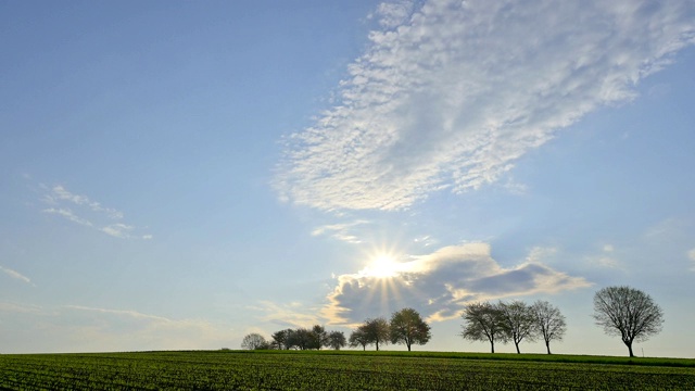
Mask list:
[[[331,324],[351,325],[375,316],[388,316],[404,306],[419,311],[430,321],[459,316],[471,301],[555,293],[590,287],[540,261],[534,250],[523,263],[505,268],[492,258],[486,243],[441,248],[431,254],[412,256],[396,275],[376,278],[367,273],[342,275],[328,294],[323,315]]]

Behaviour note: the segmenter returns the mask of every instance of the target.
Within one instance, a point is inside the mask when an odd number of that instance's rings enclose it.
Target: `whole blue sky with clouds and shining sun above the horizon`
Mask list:
[[[0,1],[0,353],[403,307],[488,352],[467,303],[546,300],[627,355],[630,286],[693,357],[694,43],[692,0]]]

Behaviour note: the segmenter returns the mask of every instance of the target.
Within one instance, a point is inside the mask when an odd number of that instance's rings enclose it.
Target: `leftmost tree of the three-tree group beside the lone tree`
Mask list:
[[[462,314],[464,331],[462,337],[470,341],[489,341],[492,353],[495,352],[495,341],[506,342],[507,336],[502,328],[502,313],[490,302],[471,303],[466,305]]]

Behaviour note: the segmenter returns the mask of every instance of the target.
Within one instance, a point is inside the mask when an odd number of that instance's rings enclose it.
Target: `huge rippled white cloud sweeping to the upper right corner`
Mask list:
[[[515,161],[695,43],[695,3],[429,0],[382,29],[338,102],[288,137],[275,186],[296,204],[401,210],[498,180]]]

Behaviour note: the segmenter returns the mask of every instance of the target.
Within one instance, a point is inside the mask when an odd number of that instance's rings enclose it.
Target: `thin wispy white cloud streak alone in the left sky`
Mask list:
[[[124,218],[124,214],[118,210],[105,207],[87,195],[73,193],[61,185],[51,188],[41,186],[41,188],[46,190],[42,197],[43,202],[52,205],[51,207],[45,209],[42,211],[43,213],[62,216],[70,222],[92,227],[114,238],[152,239],[152,235],[136,235],[135,231],[137,227],[121,223],[119,220]],[[78,211],[75,212],[73,209],[77,209]],[[89,217],[85,217],[85,215]]]

